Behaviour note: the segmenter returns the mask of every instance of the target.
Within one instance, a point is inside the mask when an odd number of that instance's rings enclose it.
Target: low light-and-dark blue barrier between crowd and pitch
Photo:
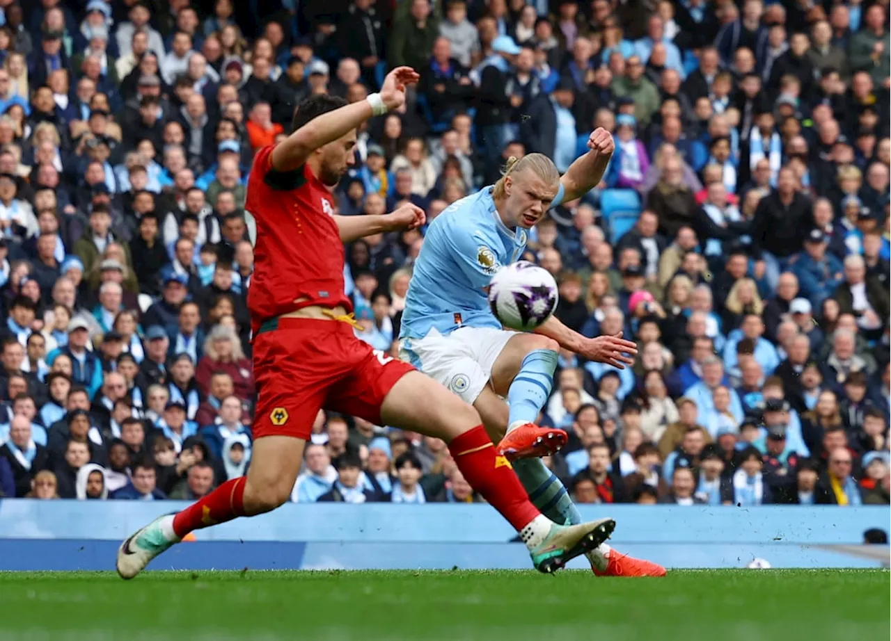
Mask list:
[[[0,571],[112,570],[120,541],[179,501],[0,500]],[[611,516],[611,545],[678,568],[879,567],[815,548],[891,529],[887,507],[581,506]],[[195,533],[156,570],[462,569],[530,567],[526,548],[483,505],[288,504]],[[584,559],[570,567],[584,568]]]

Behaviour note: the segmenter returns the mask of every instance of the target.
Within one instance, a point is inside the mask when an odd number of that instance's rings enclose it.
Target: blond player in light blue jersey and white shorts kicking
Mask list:
[[[557,523],[582,522],[566,488],[538,458],[566,438],[561,430],[535,426],[551,394],[557,350],[623,368],[634,364],[637,349],[620,335],[583,337],[554,317],[532,333],[507,331],[489,309],[486,288],[502,265],[519,259],[527,230],[548,209],[600,183],[615,149],[612,135],[597,129],[588,149],[563,176],[543,154],[510,158],[495,185],[438,215],[414,265],[400,333],[401,357],[478,410],[493,440],[501,439],[500,452],[514,461],[529,498]],[[665,574],[605,544],[587,556],[597,574]]]

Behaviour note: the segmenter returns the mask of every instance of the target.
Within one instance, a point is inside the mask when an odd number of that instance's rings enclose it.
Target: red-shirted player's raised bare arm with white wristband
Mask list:
[[[411,67],[396,67],[384,78],[380,93],[372,93],[364,101],[353,102],[313,118],[275,145],[273,167],[280,172],[293,171],[307,162],[313,151],[336,141],[365,120],[401,107],[405,103],[405,87],[414,85],[418,79],[417,72]]]

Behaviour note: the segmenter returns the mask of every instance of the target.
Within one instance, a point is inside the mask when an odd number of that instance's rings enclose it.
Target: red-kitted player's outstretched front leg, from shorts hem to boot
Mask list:
[[[529,501],[511,463],[497,454],[477,411],[420,372],[409,372],[393,385],[380,416],[387,425],[446,441],[468,483],[519,531],[542,572],[553,572],[596,548],[615,527],[611,519],[569,526],[552,523]]]

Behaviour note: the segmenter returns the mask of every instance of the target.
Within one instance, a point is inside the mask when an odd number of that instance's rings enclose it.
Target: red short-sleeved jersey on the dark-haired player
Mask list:
[[[352,304],[343,291],[344,250],[331,191],[304,165],[272,166],[274,145],[257,151],[245,209],[257,222],[248,308],[251,325],[309,305]],[[296,302],[298,299],[305,300]]]

